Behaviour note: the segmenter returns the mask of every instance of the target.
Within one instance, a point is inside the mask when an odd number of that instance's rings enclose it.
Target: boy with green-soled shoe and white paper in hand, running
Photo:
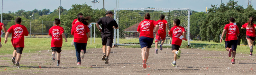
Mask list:
[[[174,27],[171,28],[170,32],[168,33],[170,37],[172,37],[171,41],[171,51],[174,53],[174,60],[171,63],[172,66],[176,66],[176,60],[180,59],[181,50],[179,50],[182,39],[186,40],[186,32],[184,27],[180,26],[180,20],[174,19],[173,20]],[[183,34],[183,36],[182,36]]]

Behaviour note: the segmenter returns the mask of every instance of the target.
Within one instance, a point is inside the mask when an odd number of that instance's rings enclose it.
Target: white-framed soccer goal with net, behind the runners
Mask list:
[[[139,23],[144,20],[146,13],[149,13],[150,19],[155,21],[160,19],[161,14],[165,15],[165,20],[167,20],[170,29],[173,27],[173,19],[180,19],[180,26],[184,27],[187,31],[188,46],[190,44],[190,9],[114,8],[114,13],[114,19],[119,27],[119,29],[114,29],[114,45],[138,45],[139,33],[137,28]],[[168,36],[168,30],[166,33],[164,45],[170,45],[171,38]]]

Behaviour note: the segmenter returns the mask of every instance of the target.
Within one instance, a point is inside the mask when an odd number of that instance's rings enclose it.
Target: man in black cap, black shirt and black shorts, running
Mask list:
[[[101,32],[101,41],[102,41],[102,50],[103,57],[101,60],[105,60],[105,64],[108,64],[108,56],[111,51],[114,35],[113,28],[118,29],[118,25],[116,21],[112,18],[114,13],[112,11],[106,12],[106,17],[100,18],[96,23],[97,28]],[[100,29],[99,24],[102,25],[102,29]],[[106,48],[107,46],[107,48]],[[107,52],[107,53],[106,53]],[[105,58],[106,57],[106,58]]]

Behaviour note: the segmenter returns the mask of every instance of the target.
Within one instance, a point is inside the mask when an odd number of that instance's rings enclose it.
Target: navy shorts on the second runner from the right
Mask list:
[[[230,40],[225,42],[225,48],[232,48],[232,51],[236,51],[236,47],[238,45],[238,40]]]

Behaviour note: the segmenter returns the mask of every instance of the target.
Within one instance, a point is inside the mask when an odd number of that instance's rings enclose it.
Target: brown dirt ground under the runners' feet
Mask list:
[[[25,49],[25,48],[24,48]],[[202,49],[181,49],[181,58],[176,67],[171,65],[173,54],[170,48],[154,54],[151,48],[147,69],[142,68],[140,48],[112,48],[109,65],[102,61],[102,49],[88,49],[81,65],[77,66],[75,50],[62,50],[61,64],[51,60],[51,51],[23,53],[21,68],[11,63],[12,54],[0,54],[0,75],[255,75],[256,58],[249,54],[237,53],[235,64],[224,51],[204,51]],[[249,51],[249,50],[248,50]],[[39,68],[41,66],[41,69]],[[6,68],[6,70],[4,70]]]

